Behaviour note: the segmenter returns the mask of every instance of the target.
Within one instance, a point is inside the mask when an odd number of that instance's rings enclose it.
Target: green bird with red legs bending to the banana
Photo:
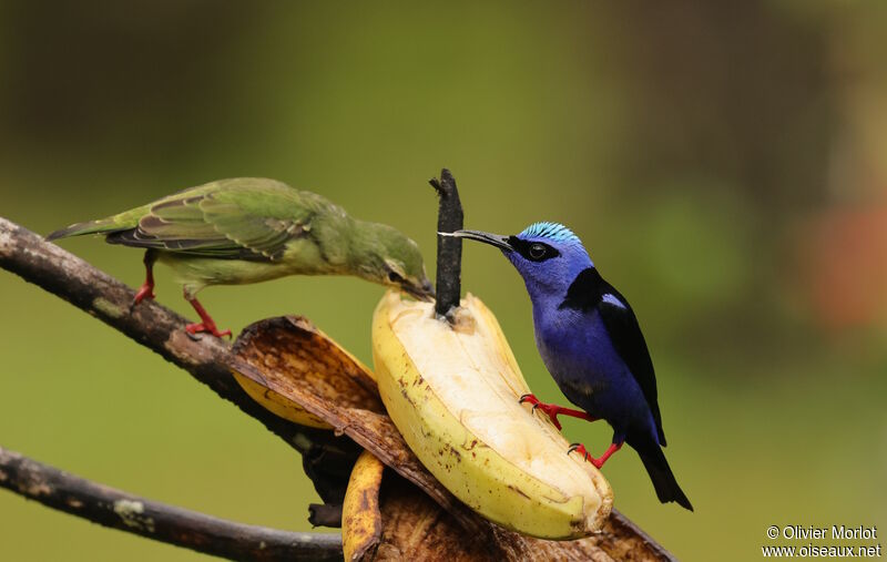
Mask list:
[[[145,248],[145,282],[133,306],[154,298],[154,263],[173,268],[201,317],[190,334],[220,331],[195,295],[286,275],[355,275],[434,298],[419,246],[397,229],[359,221],[315,193],[266,178],[220,180],[123,213],[73,224],[47,239],[104,234],[110,244]]]

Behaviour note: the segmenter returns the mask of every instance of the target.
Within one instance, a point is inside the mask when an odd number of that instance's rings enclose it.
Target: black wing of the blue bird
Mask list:
[[[559,308],[574,308],[585,313],[598,310],[610,334],[610,339],[613,341],[613,347],[631,370],[646,398],[646,403],[650,406],[656,423],[660,443],[664,447],[665,433],[662,430],[662,417],[659,411],[656,375],[641,326],[628,300],[601,277],[598,269],[589,267],[580,273],[570,285],[567,297]]]

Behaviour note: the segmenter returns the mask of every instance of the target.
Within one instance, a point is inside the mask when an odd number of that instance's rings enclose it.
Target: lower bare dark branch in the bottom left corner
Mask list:
[[[341,560],[338,534],[235,523],[96,484],[0,447],[0,487],[100,525],[231,560]]]

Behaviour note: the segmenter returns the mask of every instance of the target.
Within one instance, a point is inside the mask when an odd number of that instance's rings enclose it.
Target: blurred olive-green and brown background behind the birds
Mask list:
[[[769,524],[887,529],[887,4],[0,3],[0,215],[45,234],[261,175],[390,223],[434,262],[450,167],[469,227],[570,225],[632,302],[669,459],[616,507],[677,556]],[[67,249],[131,286],[141,255]],[[432,264],[431,269],[434,269]],[[432,273],[429,270],[429,273]],[[530,385],[559,400],[517,273],[465,249]],[[220,326],[297,313],[365,361],[383,289],[218,287]],[[159,299],[193,316],[159,268]],[[300,459],[159,356],[0,273],[0,445],[145,497],[307,530]],[[600,452],[606,427],[567,421]],[[196,560],[0,493],[7,560]]]

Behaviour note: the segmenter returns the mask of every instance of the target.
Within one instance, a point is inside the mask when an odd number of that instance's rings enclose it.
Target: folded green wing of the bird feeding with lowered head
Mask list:
[[[289,241],[308,234],[312,218],[325,207],[335,206],[273,180],[223,180],[155,202],[134,228],[110,234],[108,242],[274,262],[283,257]]]

